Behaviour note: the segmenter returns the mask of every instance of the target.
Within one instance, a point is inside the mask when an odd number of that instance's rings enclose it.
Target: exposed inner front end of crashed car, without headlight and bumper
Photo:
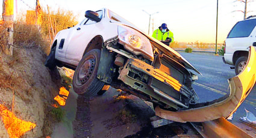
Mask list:
[[[153,58],[126,50],[118,37],[105,41],[98,78],[114,88],[136,95],[166,110],[189,109],[198,103],[192,88],[195,74],[151,41]]]

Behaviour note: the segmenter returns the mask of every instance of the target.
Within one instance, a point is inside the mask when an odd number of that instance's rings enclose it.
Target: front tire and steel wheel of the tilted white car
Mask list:
[[[73,76],[73,90],[76,94],[90,97],[102,89],[104,82],[97,78],[100,58],[99,49],[90,50],[83,56]]]

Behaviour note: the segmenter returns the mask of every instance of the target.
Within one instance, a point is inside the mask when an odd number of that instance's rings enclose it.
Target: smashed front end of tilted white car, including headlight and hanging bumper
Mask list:
[[[255,49],[251,47],[246,69],[229,79],[229,94],[198,103],[198,95],[192,88],[197,76],[187,69],[199,71],[170,47],[152,38],[146,40],[145,35],[138,32],[120,30],[121,37],[111,38],[102,46],[97,77],[113,88],[151,101],[155,114],[161,118],[176,122],[228,118],[254,86],[256,57]]]

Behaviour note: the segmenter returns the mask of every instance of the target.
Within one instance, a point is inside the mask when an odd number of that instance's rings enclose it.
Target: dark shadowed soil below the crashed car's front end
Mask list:
[[[201,137],[186,123],[153,128],[152,104],[133,95],[118,97],[111,88],[104,95],[77,98],[73,137]]]

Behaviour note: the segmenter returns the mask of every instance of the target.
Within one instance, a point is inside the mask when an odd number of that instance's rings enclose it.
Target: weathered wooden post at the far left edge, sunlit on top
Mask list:
[[[7,23],[7,46],[4,47],[4,53],[13,55],[13,0],[3,0],[2,19]]]

